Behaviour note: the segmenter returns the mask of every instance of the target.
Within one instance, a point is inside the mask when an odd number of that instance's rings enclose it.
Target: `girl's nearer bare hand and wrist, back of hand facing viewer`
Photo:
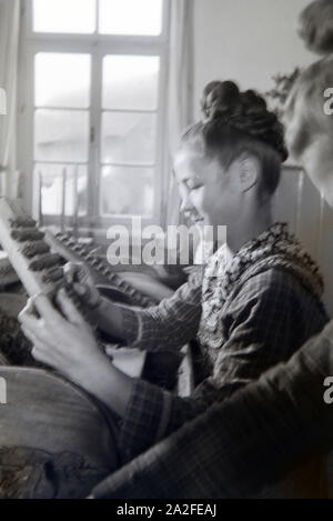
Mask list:
[[[33,344],[33,357],[123,415],[132,379],[115,369],[99,349],[91,328],[64,290],[59,291],[57,302],[63,315],[43,294],[29,299],[19,314],[22,330]]]

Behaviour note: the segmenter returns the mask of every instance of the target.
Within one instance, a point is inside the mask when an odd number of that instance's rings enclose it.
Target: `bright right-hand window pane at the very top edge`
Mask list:
[[[102,34],[158,36],[162,28],[162,0],[100,0]]]

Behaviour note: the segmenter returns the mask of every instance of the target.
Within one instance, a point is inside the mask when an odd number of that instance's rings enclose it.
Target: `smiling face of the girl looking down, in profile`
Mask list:
[[[229,226],[238,218],[242,192],[234,161],[225,171],[216,158],[209,159],[193,146],[183,144],[175,156],[174,174],[182,200],[181,211],[193,221]]]

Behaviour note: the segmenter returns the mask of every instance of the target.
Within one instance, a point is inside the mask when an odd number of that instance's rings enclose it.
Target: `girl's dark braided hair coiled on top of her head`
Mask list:
[[[221,124],[250,134],[287,158],[283,126],[254,90],[241,92],[233,81],[212,81],[203,90],[204,123]]]

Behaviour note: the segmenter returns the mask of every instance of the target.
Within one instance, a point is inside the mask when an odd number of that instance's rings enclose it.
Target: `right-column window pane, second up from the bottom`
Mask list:
[[[155,122],[155,114],[105,112],[102,120],[102,162],[154,163]]]

